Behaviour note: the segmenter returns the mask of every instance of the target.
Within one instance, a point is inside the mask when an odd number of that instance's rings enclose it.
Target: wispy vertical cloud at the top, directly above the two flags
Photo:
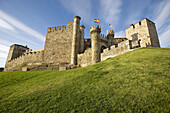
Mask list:
[[[101,31],[102,34],[106,34],[109,24],[114,25],[114,28],[116,28],[115,26],[119,23],[122,0],[100,0],[99,3],[100,7],[97,11],[99,18],[102,19],[100,23]]]

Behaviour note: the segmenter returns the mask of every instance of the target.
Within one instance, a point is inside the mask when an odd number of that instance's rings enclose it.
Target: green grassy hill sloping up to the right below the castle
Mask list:
[[[0,112],[170,112],[170,49],[66,71],[1,72]]]

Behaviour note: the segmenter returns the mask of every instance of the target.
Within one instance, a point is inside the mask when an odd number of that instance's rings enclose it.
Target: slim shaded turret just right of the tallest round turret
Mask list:
[[[81,32],[81,35],[80,35],[80,53],[83,53],[84,52],[84,25],[80,26],[80,32]]]

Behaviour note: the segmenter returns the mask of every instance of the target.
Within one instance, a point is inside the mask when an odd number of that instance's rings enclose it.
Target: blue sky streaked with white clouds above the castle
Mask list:
[[[75,15],[86,27],[85,38],[95,18],[102,34],[112,24],[115,37],[126,37],[130,24],[148,18],[156,24],[161,47],[170,48],[170,0],[0,0],[0,67],[10,45],[44,48],[47,27],[67,25]]]

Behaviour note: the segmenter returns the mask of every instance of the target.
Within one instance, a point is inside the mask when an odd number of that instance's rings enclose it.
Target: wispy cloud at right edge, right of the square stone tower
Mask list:
[[[163,0],[159,5],[155,5],[152,10],[161,47],[168,47],[170,46],[170,1]]]

